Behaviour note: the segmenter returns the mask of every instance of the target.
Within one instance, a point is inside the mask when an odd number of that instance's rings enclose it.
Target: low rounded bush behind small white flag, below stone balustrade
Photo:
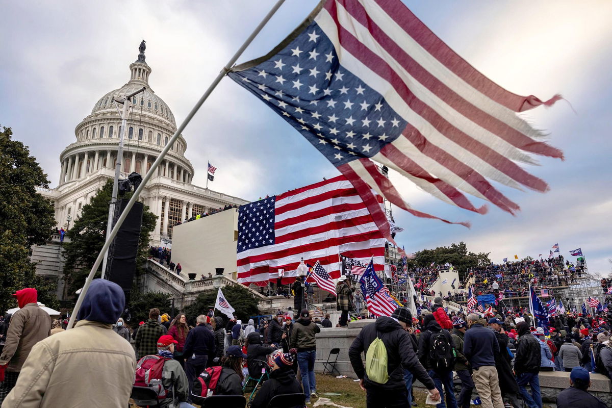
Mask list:
[[[248,321],[250,316],[258,316],[259,304],[258,298],[255,297],[247,288],[240,284],[225,286],[221,289],[225,299],[236,310],[235,314],[238,319]],[[187,321],[190,324],[195,324],[195,318],[200,314],[207,314],[208,310],[215,305],[217,300],[217,290],[201,293],[196,297],[195,301],[185,307],[183,313],[187,316]],[[221,316],[225,321],[228,317],[225,314],[215,310],[215,316]]]

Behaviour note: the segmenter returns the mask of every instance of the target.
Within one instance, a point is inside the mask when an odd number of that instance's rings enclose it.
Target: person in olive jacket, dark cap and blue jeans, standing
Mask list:
[[[302,388],[306,402],[310,402],[311,397],[316,395],[315,380],[315,358],[316,358],[316,339],[315,334],[321,332],[318,325],[310,320],[310,313],[307,309],[300,311],[299,319],[293,325],[291,332],[292,349],[297,349],[297,366],[302,376]]]

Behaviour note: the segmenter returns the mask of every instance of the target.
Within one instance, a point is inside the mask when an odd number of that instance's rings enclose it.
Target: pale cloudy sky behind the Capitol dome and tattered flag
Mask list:
[[[489,206],[487,215],[476,215],[436,201],[392,175],[416,209],[472,223],[466,229],[395,209],[397,223],[405,228],[398,242],[416,251],[464,240],[472,251],[491,252],[495,262],[514,254],[548,254],[559,243],[564,256],[581,247],[589,269],[609,272],[612,2],[404,1],[501,86],[542,99],[561,93],[569,103],[526,114],[535,127],[550,132],[553,146],[564,150],[565,161],[540,158],[540,166],[528,169],[547,180],[551,191],[499,187],[521,211],[513,217]],[[74,128],[94,103],[129,80],[128,65],[141,39],[147,41],[153,70],[149,83],[181,122],[272,4],[0,0],[0,125],[13,128],[15,138],[30,147],[57,185],[61,150],[75,140]],[[315,5],[286,1],[239,62],[267,53]],[[209,159],[218,168],[209,187],[245,199],[338,174],[299,133],[228,78],[183,135],[196,169],[194,183],[204,184]]]

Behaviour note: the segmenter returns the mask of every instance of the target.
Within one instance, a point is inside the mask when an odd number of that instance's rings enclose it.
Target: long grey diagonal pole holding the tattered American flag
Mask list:
[[[111,242],[113,242],[113,239],[117,235],[117,232],[119,232],[119,228],[121,228],[123,221],[125,221],[125,218],[127,218],[127,215],[130,213],[130,210],[134,206],[136,199],[138,199],[138,196],[143,191],[144,186],[146,186],[147,182],[149,181],[149,179],[151,179],[154,172],[157,171],[157,167],[159,167],[159,165],[162,163],[162,160],[166,157],[166,154],[168,154],[168,151],[170,151],[170,147],[174,145],[174,142],[176,142],[185,127],[187,127],[189,122],[193,119],[193,116],[195,116],[195,114],[198,112],[200,106],[203,105],[203,103],[211,95],[212,91],[214,91],[215,87],[217,87],[217,85],[221,82],[223,76],[230,72],[231,67],[234,65],[237,59],[242,55],[242,53],[244,53],[244,50],[247,48],[247,46],[250,45],[251,42],[253,42],[253,39],[255,39],[256,35],[259,34],[259,31],[264,28],[266,23],[272,18],[278,8],[282,6],[283,2],[285,2],[285,0],[278,0],[276,4],[274,4],[274,7],[272,7],[272,9],[267,13],[266,17],[261,20],[261,23],[258,24],[255,30],[253,30],[253,32],[248,36],[247,40],[245,40],[245,42],[240,46],[240,48],[238,48],[236,53],[230,58],[230,61],[228,61],[225,67],[223,67],[221,72],[219,72],[217,77],[212,81],[208,89],[206,89],[206,92],[204,92],[204,94],[200,97],[200,100],[196,102],[195,106],[193,106],[192,110],[187,114],[182,124],[176,129],[176,132],[174,132],[172,138],[168,141],[168,143],[166,143],[166,146],[163,148],[162,152],[157,157],[157,160],[155,160],[154,163],[151,165],[151,168],[149,169],[147,174],[144,175],[142,182],[140,183],[138,188],[136,188],[136,191],[134,191],[132,198],[130,198],[130,201],[127,203],[127,206],[125,206],[125,209],[121,213],[121,216],[117,220],[117,223],[115,224],[113,230],[110,234],[108,234],[108,236],[106,236],[106,242],[102,246],[102,249],[98,254],[98,258],[95,259],[94,265],[92,266],[91,271],[89,272],[88,279],[85,281],[85,284],[83,286],[83,290],[81,290],[81,293],[79,294],[79,297],[76,300],[76,305],[72,311],[72,316],[70,316],[70,321],[68,322],[68,326],[66,327],[67,329],[72,328],[75,324],[75,319],[78,314],[78,310],[81,308],[81,304],[83,304],[85,294],[89,289],[89,285],[94,280],[95,272],[100,267],[102,259],[104,258],[104,254],[110,247]],[[208,179],[208,177],[206,177],[206,179]]]

